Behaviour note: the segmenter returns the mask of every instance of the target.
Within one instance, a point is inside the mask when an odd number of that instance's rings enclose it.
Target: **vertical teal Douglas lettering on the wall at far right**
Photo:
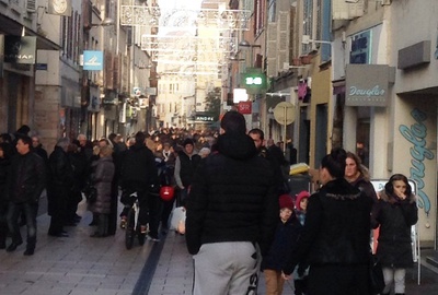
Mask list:
[[[424,209],[426,214],[429,214],[430,199],[423,190],[425,187],[424,177],[426,170],[424,161],[434,158],[434,153],[426,148],[427,127],[423,121],[427,119],[427,115],[415,108],[411,111],[411,116],[415,119],[416,123],[412,125],[411,128],[401,125],[399,130],[408,142],[414,144],[411,148],[412,167],[410,169],[410,178],[417,184],[418,206]]]

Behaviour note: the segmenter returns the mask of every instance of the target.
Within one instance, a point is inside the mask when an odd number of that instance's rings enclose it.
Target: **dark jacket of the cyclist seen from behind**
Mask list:
[[[122,164],[122,187],[129,190],[149,190],[158,181],[155,157],[145,144],[136,143],[126,151]]]

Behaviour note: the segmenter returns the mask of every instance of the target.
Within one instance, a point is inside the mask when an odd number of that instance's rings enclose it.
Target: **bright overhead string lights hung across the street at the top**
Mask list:
[[[148,1],[151,2],[151,1]],[[122,0],[120,25],[140,26],[141,49],[149,52],[161,73],[193,66],[192,74],[218,75],[238,50],[238,32],[249,31],[251,11],[206,8],[162,8]],[[210,69],[209,71],[207,69]],[[215,69],[215,70],[214,70]]]

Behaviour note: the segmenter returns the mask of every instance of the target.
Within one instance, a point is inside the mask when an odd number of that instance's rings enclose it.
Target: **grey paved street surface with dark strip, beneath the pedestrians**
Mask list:
[[[78,226],[67,227],[69,237],[47,235],[49,216],[37,219],[35,253],[23,256],[25,245],[14,252],[0,250],[0,295],[176,295],[192,294],[193,262],[184,236],[170,232],[159,243],[147,240],[127,250],[124,229],[115,236],[91,238],[92,214],[81,202]],[[25,234],[25,227],[22,228]],[[8,239],[8,245],[10,239]],[[422,250],[420,284],[417,268],[408,270],[406,294],[438,294],[438,269],[426,264],[431,249]],[[284,295],[292,295],[290,283]],[[265,294],[263,274],[258,294]]]

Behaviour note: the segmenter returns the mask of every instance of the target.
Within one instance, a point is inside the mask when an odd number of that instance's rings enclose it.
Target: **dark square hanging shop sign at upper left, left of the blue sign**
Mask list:
[[[4,62],[35,63],[36,37],[4,36]]]

